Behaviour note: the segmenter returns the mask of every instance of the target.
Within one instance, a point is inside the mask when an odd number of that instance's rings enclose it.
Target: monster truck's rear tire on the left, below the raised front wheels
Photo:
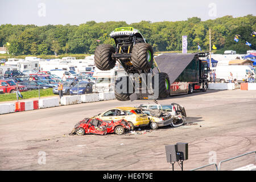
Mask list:
[[[123,81],[123,78],[125,77],[120,77],[117,81],[115,81],[115,98],[118,101],[129,101],[131,95],[131,93],[129,93],[129,77],[126,76],[125,84],[122,84],[119,88],[119,83]],[[119,89],[122,89],[123,92],[120,92],[121,90]]]

